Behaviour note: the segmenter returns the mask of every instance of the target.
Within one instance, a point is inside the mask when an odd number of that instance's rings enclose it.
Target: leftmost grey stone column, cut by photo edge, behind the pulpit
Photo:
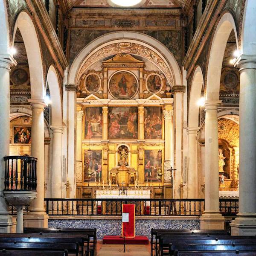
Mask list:
[[[3,198],[5,161],[9,155],[10,138],[10,68],[13,62],[0,58],[0,233],[15,232],[16,221],[9,215],[7,204]]]

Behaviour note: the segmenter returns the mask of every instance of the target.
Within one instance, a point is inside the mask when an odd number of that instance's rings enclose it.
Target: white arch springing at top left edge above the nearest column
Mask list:
[[[6,1],[0,0],[0,24],[1,24],[1,37],[0,37],[0,55],[6,56],[12,55],[9,52],[10,40],[9,40],[9,23],[8,14],[6,9]]]

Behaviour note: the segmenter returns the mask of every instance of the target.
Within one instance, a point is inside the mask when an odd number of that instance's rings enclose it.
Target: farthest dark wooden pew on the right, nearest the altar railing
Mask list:
[[[153,251],[155,250],[155,246],[157,244],[157,233],[218,233],[220,236],[230,235],[230,230],[167,230],[167,229],[151,229],[151,256],[153,256]],[[155,238],[155,243],[154,243]],[[155,254],[157,255],[157,254]]]

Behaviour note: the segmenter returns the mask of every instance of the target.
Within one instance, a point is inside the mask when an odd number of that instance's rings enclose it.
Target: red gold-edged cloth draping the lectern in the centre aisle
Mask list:
[[[135,237],[135,204],[122,204],[122,212],[129,213],[129,222],[122,222],[122,237]]]

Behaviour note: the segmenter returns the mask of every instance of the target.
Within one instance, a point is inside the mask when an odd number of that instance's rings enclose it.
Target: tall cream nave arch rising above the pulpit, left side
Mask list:
[[[22,35],[28,57],[31,81],[31,99],[43,100],[45,96],[45,89],[41,48],[34,23],[25,11],[20,12],[17,16],[14,26],[12,45],[14,45],[17,29],[20,30]]]

